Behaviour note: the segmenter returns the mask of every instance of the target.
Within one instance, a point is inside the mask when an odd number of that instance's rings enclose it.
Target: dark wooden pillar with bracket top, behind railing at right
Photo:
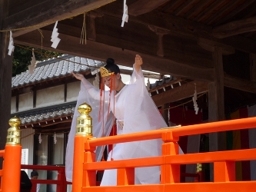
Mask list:
[[[214,81],[208,83],[208,121],[223,121],[224,117],[224,71],[222,55],[234,54],[234,48],[199,38],[198,45],[212,52]],[[226,150],[223,132],[209,134],[209,151]],[[210,166],[210,180],[214,180],[213,164]]]

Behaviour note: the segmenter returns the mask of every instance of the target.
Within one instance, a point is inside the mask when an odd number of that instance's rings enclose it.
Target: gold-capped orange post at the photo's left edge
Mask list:
[[[19,192],[21,184],[21,131],[19,118],[9,120],[3,161],[2,192]]]

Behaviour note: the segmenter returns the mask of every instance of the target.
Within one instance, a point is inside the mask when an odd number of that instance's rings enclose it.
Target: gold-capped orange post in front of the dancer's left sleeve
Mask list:
[[[91,150],[89,150],[85,152],[85,145],[88,139],[92,137],[92,126],[91,126],[92,119],[88,115],[91,112],[91,106],[86,103],[83,103],[78,107],[78,111],[81,115],[77,118],[76,135],[75,135],[75,143],[74,143],[74,161],[73,161],[73,179],[72,179],[73,192],[81,191],[81,187],[83,187],[83,174],[84,174],[83,164],[85,161],[90,161],[90,159],[93,158],[93,154],[91,154],[93,153],[93,151],[91,152]],[[89,146],[87,146],[86,148],[87,150],[90,149]],[[85,177],[87,176],[85,175]],[[90,181],[91,178],[88,177],[88,180]],[[95,183],[96,183],[96,176],[95,176]]]

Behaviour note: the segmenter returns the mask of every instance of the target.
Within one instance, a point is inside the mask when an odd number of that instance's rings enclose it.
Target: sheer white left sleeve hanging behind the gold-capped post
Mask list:
[[[91,105],[91,113],[89,114],[92,118],[92,127],[93,127],[93,136],[94,137],[105,137],[108,136],[111,127],[113,125],[113,114],[107,113],[108,111],[108,98],[109,94],[108,91],[105,91],[105,106],[104,110],[102,110],[102,114],[104,114],[104,134],[103,134],[103,118],[101,121],[98,122],[98,111],[100,108],[99,99],[100,99],[100,91],[98,88],[95,88],[89,81],[83,79],[81,81],[81,91],[78,94],[78,101],[75,107],[75,112],[72,118],[71,129],[68,135],[68,144],[66,149],[66,158],[65,158],[65,174],[66,180],[72,182],[72,174],[73,174],[73,156],[74,156],[74,139],[75,139],[75,132],[76,132],[76,120],[80,115],[78,112],[78,107],[80,104],[86,102],[87,104]],[[103,106],[101,106],[103,109]],[[102,115],[103,117],[103,115]],[[100,161],[104,147],[97,147],[96,149],[96,161]]]

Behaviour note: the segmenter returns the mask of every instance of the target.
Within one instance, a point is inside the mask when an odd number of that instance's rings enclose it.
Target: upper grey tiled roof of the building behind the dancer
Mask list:
[[[105,62],[71,55],[62,55],[58,58],[39,62],[33,74],[30,74],[27,70],[22,72],[22,74],[16,75],[12,78],[12,88],[70,75],[71,71],[94,71],[95,68],[89,66],[101,67],[102,65],[105,65]]]

